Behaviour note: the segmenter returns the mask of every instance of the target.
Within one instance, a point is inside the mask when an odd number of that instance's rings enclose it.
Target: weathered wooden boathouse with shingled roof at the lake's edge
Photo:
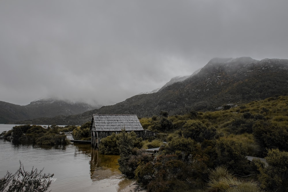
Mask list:
[[[126,132],[134,131],[143,139],[157,135],[156,132],[144,130],[137,115],[96,115],[92,117],[91,145],[98,147],[102,138],[119,134],[122,129]]]

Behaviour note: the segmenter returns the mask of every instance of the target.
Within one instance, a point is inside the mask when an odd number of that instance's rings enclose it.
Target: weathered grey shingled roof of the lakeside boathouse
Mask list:
[[[137,115],[96,115],[93,114],[94,131],[143,131]]]

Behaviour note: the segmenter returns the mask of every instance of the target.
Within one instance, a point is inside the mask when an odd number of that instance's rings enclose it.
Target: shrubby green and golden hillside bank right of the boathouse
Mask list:
[[[288,188],[288,97],[278,96],[214,112],[141,118],[144,129],[168,134],[140,141],[132,133],[101,140],[119,153],[120,170],[147,191],[285,191]],[[106,144],[106,146],[105,146]],[[151,156],[144,148],[161,147]],[[264,157],[268,166],[246,156]]]

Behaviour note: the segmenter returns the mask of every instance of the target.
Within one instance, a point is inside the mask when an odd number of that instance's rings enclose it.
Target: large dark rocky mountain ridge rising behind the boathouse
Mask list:
[[[141,94],[123,102],[78,115],[42,118],[32,122],[82,124],[92,114],[136,114],[151,117],[167,111],[181,115],[190,111],[215,111],[226,104],[243,104],[268,97],[288,95],[288,60],[250,57],[213,58],[198,73],[152,94]]]

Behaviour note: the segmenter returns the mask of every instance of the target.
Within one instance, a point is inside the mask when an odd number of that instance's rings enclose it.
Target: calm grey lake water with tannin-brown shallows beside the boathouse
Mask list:
[[[0,124],[0,133],[15,125]],[[14,145],[0,139],[0,178],[7,170],[15,173],[19,160],[26,171],[33,166],[42,173],[54,173],[49,190],[117,192],[129,184],[118,170],[118,155],[101,155],[91,145],[73,144],[66,147],[46,145]]]

